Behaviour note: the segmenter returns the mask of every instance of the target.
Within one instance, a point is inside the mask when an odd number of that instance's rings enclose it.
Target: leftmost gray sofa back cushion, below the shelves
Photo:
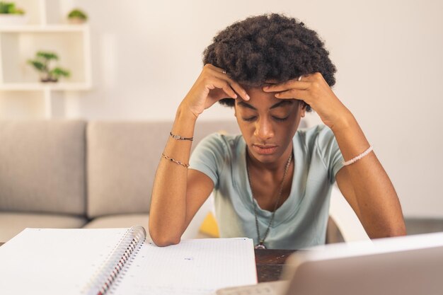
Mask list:
[[[0,121],[0,211],[86,214],[86,122]]]

